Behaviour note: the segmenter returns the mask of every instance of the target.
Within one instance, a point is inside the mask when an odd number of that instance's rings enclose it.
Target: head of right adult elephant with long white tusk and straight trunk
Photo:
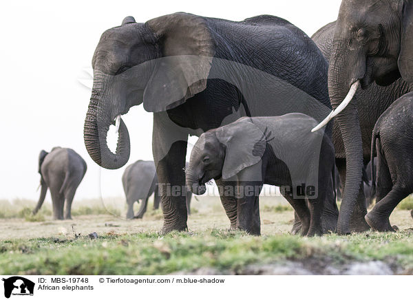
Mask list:
[[[349,231],[363,170],[357,103],[350,101],[360,85],[363,89],[373,81],[390,85],[400,76],[405,81],[413,81],[412,49],[412,1],[342,1],[328,69],[328,91],[335,110],[321,122],[324,125],[337,115],[346,149],[346,184],[337,226],[339,233]]]

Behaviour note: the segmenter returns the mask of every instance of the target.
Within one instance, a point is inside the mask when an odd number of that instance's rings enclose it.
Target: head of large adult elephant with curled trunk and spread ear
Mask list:
[[[207,21],[176,13],[146,23],[126,17],[100,37],[92,59],[94,83],[84,140],[101,167],[118,169],[129,159],[127,127],[120,116],[143,103],[151,112],[176,107],[202,92],[215,54]],[[107,131],[119,127],[116,153],[107,147]]]

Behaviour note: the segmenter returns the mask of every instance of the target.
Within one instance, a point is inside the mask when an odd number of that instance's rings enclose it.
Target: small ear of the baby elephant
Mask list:
[[[243,169],[260,162],[266,149],[265,134],[251,118],[241,118],[217,130],[218,140],[225,145],[222,179],[227,180]]]

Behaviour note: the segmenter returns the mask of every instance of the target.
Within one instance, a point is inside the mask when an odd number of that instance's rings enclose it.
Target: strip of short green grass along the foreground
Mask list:
[[[380,259],[413,268],[413,234],[368,233],[302,238],[244,233],[107,233],[0,242],[0,273],[19,275],[162,275],[211,267],[237,272],[249,264],[315,259],[331,266]]]

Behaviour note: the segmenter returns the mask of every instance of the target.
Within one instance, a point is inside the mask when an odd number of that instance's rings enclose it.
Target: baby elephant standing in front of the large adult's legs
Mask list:
[[[323,230],[321,215],[325,201],[335,203],[335,152],[324,133],[310,132],[315,125],[304,114],[286,114],[240,118],[207,131],[191,152],[187,186],[202,194],[206,182],[223,180],[221,199],[237,200],[233,206],[236,227],[253,235],[260,235],[258,196],[263,184],[280,186],[301,221],[301,235],[334,231],[337,206],[330,228]],[[226,213],[230,216],[231,212]]]

